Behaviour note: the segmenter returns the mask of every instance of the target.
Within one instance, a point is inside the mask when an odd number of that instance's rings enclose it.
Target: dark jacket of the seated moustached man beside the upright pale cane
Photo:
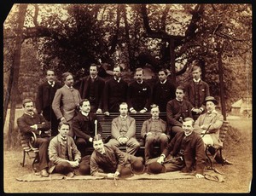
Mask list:
[[[88,141],[90,137],[95,136],[95,120],[96,115],[92,112],[85,117],[81,112],[73,118],[73,131],[77,138],[84,138]],[[102,126],[97,121],[97,134],[102,135]]]

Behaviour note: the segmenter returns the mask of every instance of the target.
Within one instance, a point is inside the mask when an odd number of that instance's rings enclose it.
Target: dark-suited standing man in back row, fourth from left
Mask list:
[[[121,78],[121,66],[113,67],[113,78],[105,84],[104,90],[104,114],[119,112],[119,105],[126,101],[128,84]]]

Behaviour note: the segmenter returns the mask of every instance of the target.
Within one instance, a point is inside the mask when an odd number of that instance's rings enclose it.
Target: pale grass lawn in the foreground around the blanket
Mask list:
[[[206,179],[180,180],[78,180],[19,182],[16,177],[32,172],[32,162],[26,159],[22,168],[22,151],[3,151],[3,191],[5,193],[249,193],[253,177],[252,119],[230,119],[239,132],[230,135],[224,146],[224,157],[233,165],[215,164],[224,172],[225,182]]]

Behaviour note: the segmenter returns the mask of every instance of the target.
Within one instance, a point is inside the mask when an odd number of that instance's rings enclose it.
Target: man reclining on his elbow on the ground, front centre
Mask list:
[[[100,135],[95,136],[93,147],[95,150],[90,157],[91,176],[115,178],[122,170],[131,167],[131,164],[143,166],[143,158],[124,153],[117,147],[104,145]]]

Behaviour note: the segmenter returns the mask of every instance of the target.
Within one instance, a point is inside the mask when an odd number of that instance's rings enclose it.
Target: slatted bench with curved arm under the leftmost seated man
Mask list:
[[[20,163],[22,167],[25,165],[26,154],[29,159],[32,160],[32,170],[36,172],[36,168],[34,164],[38,163],[38,153],[39,149],[37,147],[33,147],[34,142],[37,140],[37,136],[31,132],[29,134],[23,134],[20,131],[20,142],[23,148],[23,161]]]

